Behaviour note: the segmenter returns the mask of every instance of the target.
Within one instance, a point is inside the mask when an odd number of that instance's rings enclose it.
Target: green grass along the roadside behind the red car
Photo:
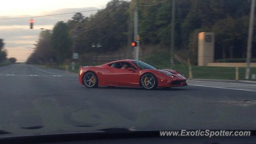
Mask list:
[[[170,52],[165,49],[158,49],[158,51],[149,51],[146,55],[140,58],[142,61],[149,63],[159,69],[171,68],[180,73],[183,73],[188,77],[188,66],[178,63],[174,60],[175,66],[170,66]],[[71,63],[62,63],[60,65],[47,65],[47,67],[57,68],[57,69],[66,69],[68,65],[68,70],[77,73],[79,71],[80,65],[100,65],[105,62],[76,62],[75,70],[71,70]],[[256,74],[256,67],[251,69],[251,74]],[[192,75],[194,79],[235,79],[235,67],[204,67],[192,65]],[[239,79],[245,79],[245,67],[239,68]]]

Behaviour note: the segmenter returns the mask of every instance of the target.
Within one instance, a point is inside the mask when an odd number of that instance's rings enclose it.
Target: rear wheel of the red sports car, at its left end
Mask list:
[[[98,87],[98,78],[95,73],[88,72],[83,78],[84,85],[88,88]]]

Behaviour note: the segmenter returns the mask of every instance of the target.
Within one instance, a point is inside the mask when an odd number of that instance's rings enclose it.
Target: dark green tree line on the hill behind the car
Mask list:
[[[158,3],[159,4],[155,4]],[[196,59],[199,32],[215,33],[215,59],[245,58],[250,0],[176,0],[175,52],[185,51]],[[152,5],[155,4],[155,5]],[[147,6],[151,5],[151,6]],[[28,63],[62,63],[79,53],[121,52],[131,49],[136,0],[112,0],[104,10],[84,17],[76,13],[53,30],[40,33],[38,45]],[[172,0],[139,0],[141,47],[170,45]],[[256,28],[254,28],[256,31]],[[254,32],[252,57],[256,57]],[[122,50],[123,49],[123,50]],[[194,61],[196,63],[196,60]]]

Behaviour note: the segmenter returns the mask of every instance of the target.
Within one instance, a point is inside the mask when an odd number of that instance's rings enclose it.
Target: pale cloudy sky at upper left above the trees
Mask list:
[[[48,14],[79,12],[105,8],[111,0],[1,0],[0,19],[33,17]],[[90,16],[93,12],[82,12]],[[52,30],[58,21],[67,21],[73,14],[48,16],[34,19],[34,29],[29,29],[28,19],[0,20],[0,38],[4,39],[9,57],[25,61],[38,40],[40,28]]]

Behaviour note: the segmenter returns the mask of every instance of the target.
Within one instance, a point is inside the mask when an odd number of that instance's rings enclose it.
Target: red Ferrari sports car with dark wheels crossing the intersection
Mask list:
[[[81,67],[79,82],[88,88],[98,86],[143,87],[182,87],[187,78],[172,69],[157,69],[138,60],[119,60],[98,66]]]

